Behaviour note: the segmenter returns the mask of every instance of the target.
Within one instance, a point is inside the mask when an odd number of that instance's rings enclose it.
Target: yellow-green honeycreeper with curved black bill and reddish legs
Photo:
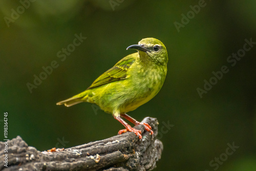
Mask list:
[[[150,125],[140,123],[126,113],[148,102],[160,91],[167,72],[168,55],[163,43],[156,38],[144,38],[128,49],[138,53],[125,56],[100,75],[88,89],[57,105],[69,107],[80,102],[95,103],[124,125],[125,129],[118,134],[134,132],[141,139],[141,131],[131,127],[121,117],[135,125],[144,124],[145,130],[154,134]]]

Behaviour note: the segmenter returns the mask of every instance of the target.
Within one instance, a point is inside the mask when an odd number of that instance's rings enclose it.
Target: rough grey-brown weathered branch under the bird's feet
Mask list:
[[[0,170],[152,170],[161,158],[163,144],[156,139],[158,121],[146,117],[142,122],[152,126],[153,135],[142,131],[142,140],[134,133],[90,142],[56,152],[40,152],[19,136],[8,141],[8,167],[4,166],[4,142],[0,142]]]

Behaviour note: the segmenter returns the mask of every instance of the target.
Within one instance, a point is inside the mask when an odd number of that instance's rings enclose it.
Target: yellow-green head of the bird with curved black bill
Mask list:
[[[138,45],[131,45],[128,49],[135,49],[141,58],[152,60],[157,65],[166,66],[168,61],[167,50],[164,44],[156,38],[143,38]]]

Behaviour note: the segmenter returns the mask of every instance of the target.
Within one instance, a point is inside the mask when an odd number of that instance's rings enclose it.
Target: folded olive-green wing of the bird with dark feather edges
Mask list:
[[[130,68],[134,61],[135,58],[133,56],[129,55],[124,57],[119,62],[117,62],[114,67],[99,76],[88,89],[93,89],[102,86],[103,84],[126,79],[127,70]]]

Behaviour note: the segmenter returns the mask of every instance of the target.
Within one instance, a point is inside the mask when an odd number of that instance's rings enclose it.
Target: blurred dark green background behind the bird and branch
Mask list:
[[[193,7],[197,13],[189,12]],[[44,151],[116,135],[123,126],[90,103],[66,108],[56,102],[134,53],[128,46],[155,37],[168,51],[165,83],[129,113],[159,120],[164,151],[155,170],[256,170],[256,45],[236,65],[227,61],[243,52],[245,39],[256,41],[255,1],[1,0],[0,18],[0,123],[3,130],[8,112],[9,139],[19,135]],[[75,34],[87,38],[59,58]],[[58,67],[30,92],[27,83],[52,61]],[[228,72],[201,98],[197,89],[222,66]],[[236,146],[232,155],[228,144]]]

